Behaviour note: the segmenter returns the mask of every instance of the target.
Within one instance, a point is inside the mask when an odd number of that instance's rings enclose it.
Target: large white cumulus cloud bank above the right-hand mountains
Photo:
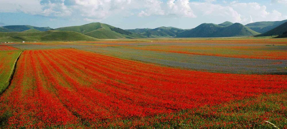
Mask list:
[[[257,21],[281,21],[287,19],[286,15],[272,10],[267,11],[265,5],[259,3],[239,3],[232,1],[228,5],[220,5],[207,2],[192,2],[190,3],[191,9],[195,10],[195,14],[210,19],[219,19],[231,22],[238,22],[248,24]]]

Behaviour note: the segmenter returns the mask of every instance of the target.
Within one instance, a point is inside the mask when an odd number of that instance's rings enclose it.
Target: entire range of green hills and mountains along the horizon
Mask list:
[[[262,34],[261,34],[262,33]],[[155,29],[121,29],[104,23],[90,23],[80,26],[34,27],[11,25],[0,27],[0,41],[80,41],[98,39],[139,38],[190,38],[190,37],[236,37],[271,36],[286,37],[287,20],[262,21],[242,25],[226,21],[221,24],[203,23],[192,29],[158,27]]]

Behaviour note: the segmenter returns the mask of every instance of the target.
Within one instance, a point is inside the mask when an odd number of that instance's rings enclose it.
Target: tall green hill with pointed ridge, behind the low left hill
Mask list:
[[[147,38],[137,33],[125,31],[121,28],[113,27],[104,23],[90,23],[81,26],[61,27],[55,29],[57,31],[74,31],[88,35],[90,37],[98,39],[136,39],[136,38]]]

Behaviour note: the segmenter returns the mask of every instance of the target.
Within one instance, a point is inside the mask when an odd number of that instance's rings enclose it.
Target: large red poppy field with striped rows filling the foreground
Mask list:
[[[181,70],[75,49],[24,51],[1,96],[7,127],[89,125],[280,93],[286,75]]]

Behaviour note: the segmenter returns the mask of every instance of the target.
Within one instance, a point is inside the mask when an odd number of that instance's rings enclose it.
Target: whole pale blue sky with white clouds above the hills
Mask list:
[[[1,0],[0,26],[67,27],[92,22],[121,29],[287,19],[287,0]]]

